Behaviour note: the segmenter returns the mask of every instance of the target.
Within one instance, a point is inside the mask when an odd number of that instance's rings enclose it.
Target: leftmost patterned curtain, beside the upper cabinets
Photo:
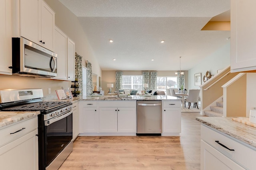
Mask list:
[[[82,56],[75,53],[75,79],[78,80],[78,91],[80,96],[83,97],[83,67],[82,67]]]

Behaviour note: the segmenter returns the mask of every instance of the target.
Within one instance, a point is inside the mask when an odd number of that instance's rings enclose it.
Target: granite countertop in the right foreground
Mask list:
[[[256,147],[256,128],[232,121],[232,117],[196,117],[196,120]]]

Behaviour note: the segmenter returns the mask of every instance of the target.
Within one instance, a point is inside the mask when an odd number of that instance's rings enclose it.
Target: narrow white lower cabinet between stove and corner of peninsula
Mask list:
[[[79,107],[78,107],[79,102],[75,102],[72,105],[73,108],[73,140],[76,139],[76,137],[79,134]]]

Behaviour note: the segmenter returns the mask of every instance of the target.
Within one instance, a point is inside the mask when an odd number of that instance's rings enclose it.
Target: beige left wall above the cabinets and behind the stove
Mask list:
[[[93,51],[90,47],[82,26],[80,25],[78,18],[70,12],[64,5],[58,0],[45,0],[46,3],[54,10],[55,24],[68,37],[70,37],[75,43],[75,52],[83,56],[82,65],[85,65],[85,60],[92,63],[92,72],[98,76],[102,76],[102,72],[98,61],[94,57]],[[49,79],[35,79],[34,77],[22,77],[13,75],[0,75],[0,89],[23,89],[23,88],[42,88],[44,96],[57,97],[55,90],[67,89],[70,87],[70,81],[58,81]],[[51,94],[48,94],[48,88],[51,88]]]

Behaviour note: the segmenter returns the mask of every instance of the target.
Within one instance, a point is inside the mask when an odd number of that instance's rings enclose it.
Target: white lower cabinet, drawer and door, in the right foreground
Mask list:
[[[255,157],[255,147],[201,125],[201,170],[252,170]]]

